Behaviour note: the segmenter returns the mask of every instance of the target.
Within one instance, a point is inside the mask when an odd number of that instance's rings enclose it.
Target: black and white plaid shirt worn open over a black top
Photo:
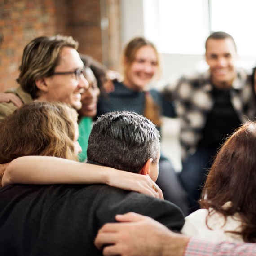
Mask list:
[[[163,94],[174,101],[176,114],[181,122],[182,159],[196,150],[197,143],[203,135],[207,115],[214,105],[212,89],[210,72],[207,71],[193,76],[183,76],[175,87],[170,84],[163,90]],[[237,76],[230,88],[230,100],[241,123],[255,117],[256,98],[250,72],[237,69]]]

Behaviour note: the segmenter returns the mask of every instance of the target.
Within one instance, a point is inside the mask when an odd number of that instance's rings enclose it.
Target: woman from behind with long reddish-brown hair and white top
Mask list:
[[[256,122],[243,124],[218,152],[200,209],[186,217],[184,234],[256,242]]]

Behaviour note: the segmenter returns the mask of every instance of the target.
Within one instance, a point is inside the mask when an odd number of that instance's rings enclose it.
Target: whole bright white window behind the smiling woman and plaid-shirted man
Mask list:
[[[143,0],[144,35],[160,53],[203,54],[210,31],[225,31],[256,59],[255,12],[255,0]]]

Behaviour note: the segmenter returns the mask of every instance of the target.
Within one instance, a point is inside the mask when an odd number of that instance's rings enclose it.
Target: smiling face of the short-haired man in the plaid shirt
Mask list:
[[[212,84],[220,89],[229,88],[236,76],[234,62],[237,59],[237,52],[233,40],[209,39],[205,56]]]

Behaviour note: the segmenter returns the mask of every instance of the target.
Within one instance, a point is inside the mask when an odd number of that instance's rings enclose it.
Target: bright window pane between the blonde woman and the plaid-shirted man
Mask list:
[[[202,0],[159,0],[159,42],[162,53],[203,53]]]

